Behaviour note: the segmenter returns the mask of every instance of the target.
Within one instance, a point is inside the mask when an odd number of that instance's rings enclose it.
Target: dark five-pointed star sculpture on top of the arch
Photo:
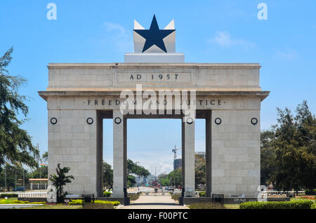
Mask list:
[[[159,29],[156,16],[154,15],[154,18],[152,18],[150,29],[134,29],[134,31],[146,39],[142,53],[144,53],[147,49],[154,45],[158,46],[159,48],[164,50],[165,53],[167,53],[163,39],[169,34],[175,32],[176,29]]]

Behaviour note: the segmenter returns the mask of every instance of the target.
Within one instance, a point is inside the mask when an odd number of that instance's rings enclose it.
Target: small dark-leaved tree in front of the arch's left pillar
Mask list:
[[[66,173],[68,173],[69,170],[70,168],[67,167],[60,168],[60,163],[58,163],[56,168],[57,175],[54,174],[49,176],[49,180],[56,188],[57,203],[62,203],[63,198],[67,195],[67,191],[64,192],[63,187],[72,182],[70,179],[74,180],[74,176],[66,176]]]

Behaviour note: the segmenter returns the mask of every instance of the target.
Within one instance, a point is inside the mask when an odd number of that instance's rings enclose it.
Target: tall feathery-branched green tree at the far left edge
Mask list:
[[[25,119],[17,117],[20,112],[25,117],[28,113],[27,97],[18,93],[18,88],[26,80],[12,76],[6,69],[12,60],[12,52],[13,48],[10,48],[0,58],[0,166],[6,162],[20,162],[35,167],[39,150],[33,146],[27,131],[20,128]]]

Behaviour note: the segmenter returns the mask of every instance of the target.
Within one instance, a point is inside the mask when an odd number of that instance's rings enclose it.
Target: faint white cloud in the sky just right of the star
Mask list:
[[[256,46],[255,43],[251,43],[250,41],[245,41],[243,39],[232,39],[230,33],[227,31],[218,31],[216,35],[209,40],[209,43],[213,43],[219,46],[245,46],[247,48],[254,48]]]

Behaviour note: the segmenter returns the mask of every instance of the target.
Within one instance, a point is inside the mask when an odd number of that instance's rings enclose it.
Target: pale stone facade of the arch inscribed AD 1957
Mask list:
[[[65,188],[68,193],[101,195],[102,119],[119,117],[121,122],[113,123],[114,196],[124,196],[129,117],[119,111],[123,101],[119,95],[121,90],[135,91],[136,84],[142,84],[143,90],[197,90],[197,118],[206,119],[209,196],[256,195],[261,101],[269,94],[259,85],[260,65],[50,64],[48,69],[48,88],[39,92],[48,107],[48,174],[55,173],[57,163],[70,167],[75,180]],[[57,123],[51,123],[52,118]],[[195,122],[184,122],[182,129],[183,187],[185,196],[190,196],[195,187]]]

